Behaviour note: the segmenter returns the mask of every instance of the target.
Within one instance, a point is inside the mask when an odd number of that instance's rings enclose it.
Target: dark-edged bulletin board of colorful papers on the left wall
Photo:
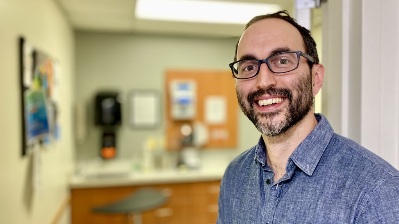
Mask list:
[[[22,155],[35,142],[60,138],[58,62],[20,38]]]

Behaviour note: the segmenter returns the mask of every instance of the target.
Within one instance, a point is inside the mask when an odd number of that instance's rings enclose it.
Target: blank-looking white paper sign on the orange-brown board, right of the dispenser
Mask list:
[[[227,99],[224,96],[209,96],[205,99],[205,122],[225,124],[227,121]]]

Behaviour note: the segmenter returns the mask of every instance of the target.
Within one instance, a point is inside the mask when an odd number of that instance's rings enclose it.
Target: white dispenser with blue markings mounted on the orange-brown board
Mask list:
[[[174,80],[170,83],[171,116],[174,120],[196,117],[197,86],[193,80]]]

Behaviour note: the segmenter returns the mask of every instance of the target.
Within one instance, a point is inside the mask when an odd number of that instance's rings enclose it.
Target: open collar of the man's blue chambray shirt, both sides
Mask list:
[[[322,114],[315,114],[315,117],[319,123],[289,157],[289,160],[292,160],[297,167],[309,176],[312,176],[334,134],[334,130],[326,117]],[[266,147],[262,137],[256,145],[255,161],[260,162],[262,166],[266,165]]]

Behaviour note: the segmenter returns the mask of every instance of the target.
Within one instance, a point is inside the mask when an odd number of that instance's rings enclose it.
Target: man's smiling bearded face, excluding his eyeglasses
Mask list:
[[[242,35],[237,60],[248,56],[262,60],[282,49],[305,52],[301,34],[284,20],[263,19]],[[266,136],[284,133],[313,105],[312,74],[304,57],[300,57],[296,70],[278,75],[262,64],[257,76],[236,79],[235,88],[241,110]],[[272,105],[266,105],[268,99],[272,99]]]

